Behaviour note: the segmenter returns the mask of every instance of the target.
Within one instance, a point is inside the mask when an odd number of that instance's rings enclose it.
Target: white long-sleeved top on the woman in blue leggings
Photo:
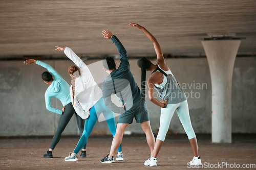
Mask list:
[[[102,97],[102,90],[94,81],[87,65],[71,50],[71,48],[66,46],[64,53],[77,67],[80,68],[81,76],[75,80],[74,103],[72,85],[70,86],[70,96],[76,113],[81,118],[86,119],[90,115],[89,110]]]

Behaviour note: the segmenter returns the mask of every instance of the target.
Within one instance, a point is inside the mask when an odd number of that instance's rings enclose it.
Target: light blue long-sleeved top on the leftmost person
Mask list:
[[[69,84],[49,64],[38,60],[36,61],[36,64],[45,67],[54,76],[52,84],[47,88],[45,93],[46,109],[54,113],[62,114],[62,110],[52,107],[51,100],[52,98],[57,98],[61,101],[63,106],[69,104],[71,102]]]

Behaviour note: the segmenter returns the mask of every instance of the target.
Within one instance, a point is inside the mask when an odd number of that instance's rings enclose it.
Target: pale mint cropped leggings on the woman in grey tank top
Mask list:
[[[158,140],[164,141],[166,133],[169,129],[170,120],[172,119],[175,110],[177,111],[180,122],[187,134],[188,139],[196,137],[189,117],[187,100],[185,100],[178,104],[168,104],[166,108],[161,109],[160,126],[157,135]]]

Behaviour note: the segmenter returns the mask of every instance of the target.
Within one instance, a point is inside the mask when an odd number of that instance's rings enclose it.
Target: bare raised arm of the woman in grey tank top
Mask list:
[[[129,26],[136,27],[136,28],[142,30],[146,34],[146,36],[154,44],[155,52],[157,54],[157,63],[164,63],[165,61],[164,61],[164,57],[163,57],[163,52],[161,50],[159,43],[157,42],[157,39],[149,31],[147,31],[144,27],[138,25],[138,23],[130,23]]]

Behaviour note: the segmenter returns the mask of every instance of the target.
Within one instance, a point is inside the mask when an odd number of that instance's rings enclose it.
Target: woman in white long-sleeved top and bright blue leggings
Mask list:
[[[86,119],[84,130],[78,141],[73,153],[65,158],[65,161],[77,161],[76,154],[84,147],[94,125],[101,113],[109,126],[113,136],[116,134],[116,121],[114,113],[105,107],[102,99],[102,90],[93,79],[88,66],[71,50],[69,47],[56,46],[56,51],[63,51],[66,56],[72,60],[75,65],[68,68],[71,76],[70,95],[72,96],[72,104],[76,113],[83,119]],[[123,160],[121,144],[117,148],[118,155],[116,160]],[[86,157],[86,148],[82,149],[82,154]]]

